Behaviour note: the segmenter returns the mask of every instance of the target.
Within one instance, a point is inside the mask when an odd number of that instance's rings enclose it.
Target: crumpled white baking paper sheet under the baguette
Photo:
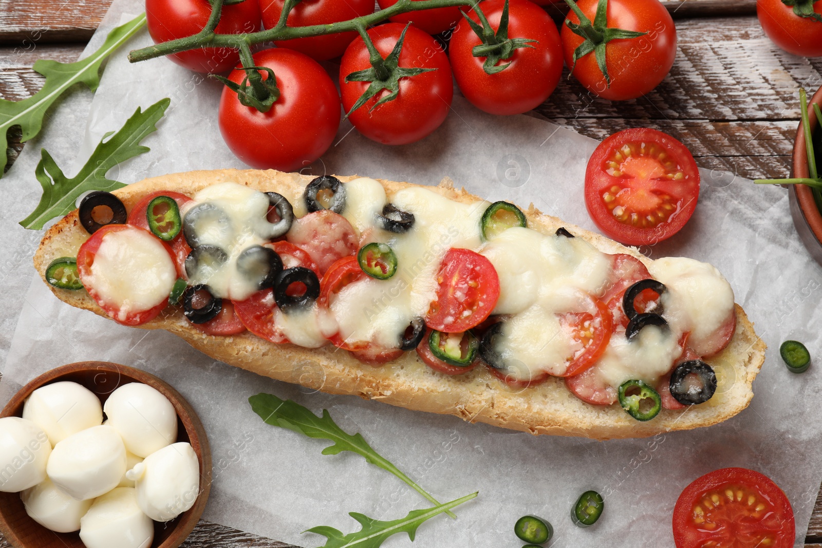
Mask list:
[[[90,48],[123,13],[141,9],[134,0],[116,0]],[[150,39],[143,31],[127,48],[145,44]],[[822,369],[788,373],[778,345],[795,338],[813,355],[822,352],[815,327],[822,325],[822,275],[792,228],[787,191],[703,171],[700,204],[690,223],[671,241],[642,250],[654,258],[709,261],[730,280],[737,302],[769,344],[749,408],[718,426],[643,440],[534,437],[253,375],[211,360],[171,334],[129,329],[66,306],[33,279],[30,257],[39,234],[16,222],[39,197],[33,176],[39,147],[48,147],[62,166],[73,163],[67,173],[75,173],[105,132],[121,127],[138,105],[168,96],[172,105],[159,131],[145,140],[151,152],[111,177],[135,182],[190,169],[242,168],[219,136],[219,89],[165,59],[130,65],[122,51],[109,61],[93,103],[78,91],[54,108],[44,135],[25,146],[0,181],[7,256],[0,269],[3,402],[36,375],[71,361],[108,360],[155,373],[192,403],[208,432],[215,469],[205,518],[299,546],[325,542],[300,533],[308,527],[357,530],[349,512],[394,519],[427,502],[356,455],[323,456],[325,442],[266,426],[247,404],[258,392],[293,398],[315,412],[330,409],[340,426],[362,432],[441,501],[479,490],[478,499],[456,509],[458,521],[439,516],[420,527],[418,546],[519,546],[511,529],[525,513],[553,523],[556,547],[672,546],[677,495],[705,472],[732,466],[763,472],[785,490],[796,512],[797,546],[803,544],[822,478]],[[584,210],[582,184],[597,143],[573,131],[535,117],[493,117],[459,97],[445,124],[414,145],[376,145],[350,130],[344,122],[312,173],[428,185],[448,176],[489,200],[533,202],[595,229]],[[569,510],[588,489],[606,495],[606,511],[597,525],[580,529],[570,523]],[[409,541],[400,535],[384,546]]]

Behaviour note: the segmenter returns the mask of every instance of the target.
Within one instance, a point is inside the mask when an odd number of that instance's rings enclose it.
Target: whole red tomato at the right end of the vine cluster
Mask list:
[[[598,0],[580,0],[577,5],[594,21]],[[580,18],[569,12],[566,21],[578,24]],[[624,101],[649,93],[665,79],[677,56],[677,29],[671,15],[658,0],[609,0],[608,28],[647,32],[633,39],[615,39],[605,46],[605,58],[611,84],[599,69],[593,52],[576,62],[574,50],[583,44],[567,25],[562,25],[562,48],[573,75],[589,91],[603,99]]]

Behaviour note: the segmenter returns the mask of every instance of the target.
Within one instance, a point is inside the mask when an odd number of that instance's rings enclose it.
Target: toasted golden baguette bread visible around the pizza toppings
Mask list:
[[[339,177],[339,180],[348,182],[353,178]],[[141,197],[153,191],[178,191],[191,196],[211,184],[231,181],[260,191],[276,191],[293,201],[302,196],[302,189],[311,179],[298,173],[274,170],[199,171],[145,179],[114,191],[114,194],[131,210]],[[389,193],[412,186],[407,182],[379,182]],[[464,190],[456,190],[448,179],[439,187],[428,188],[463,203],[480,200]],[[554,233],[556,228],[564,226],[599,251],[630,254],[646,265],[651,262],[635,248],[562,223],[560,219],[541,214],[533,205],[525,214],[529,228],[539,232]],[[87,237],[76,210],[45,233],[34,258],[35,268],[44,281],[48,264],[60,256],[76,256]],[[63,302],[105,316],[85,291],[48,287]],[[368,366],[332,345],[308,349],[270,343],[250,332],[228,337],[203,334],[192,328],[179,308],[171,307],[139,327],[166,329],[192,347],[229,365],[330,394],[356,394],[403,408],[455,415],[465,421],[485,422],[535,435],[575,435],[607,440],[710,426],[746,408],[753,397],[751,384],[764,362],[765,344],[738,305],[736,312],[737,326],[731,343],[718,355],[706,360],[718,377],[713,398],[682,411],[663,409],[658,417],[647,422],[636,421],[618,404],[597,406],[584,403],[557,377],[549,378],[542,385],[515,389],[496,379],[486,367],[478,367],[464,375],[443,375],[420,361],[416,352],[405,352],[385,366]]]

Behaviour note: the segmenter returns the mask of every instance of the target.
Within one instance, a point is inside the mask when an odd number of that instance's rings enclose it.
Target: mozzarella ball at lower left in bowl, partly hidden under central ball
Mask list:
[[[43,527],[54,532],[74,532],[80,529],[80,518],[89,511],[93,500],[76,500],[66,495],[48,478],[20,495],[25,513]]]

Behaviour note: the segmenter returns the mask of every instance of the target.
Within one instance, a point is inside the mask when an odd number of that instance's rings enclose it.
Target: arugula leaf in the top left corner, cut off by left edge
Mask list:
[[[104,44],[95,53],[81,61],[58,62],[38,59],[34,69],[46,77],[43,87],[30,98],[22,101],[0,99],[0,177],[7,163],[7,131],[9,128],[20,126],[23,131],[22,142],[25,143],[36,136],[43,127],[43,117],[48,107],[72,85],[83,83],[91,91],[96,90],[100,83],[99,68],[104,59],[131,38],[143,25],[145,25],[145,13],[113,29],[109,32]]]

